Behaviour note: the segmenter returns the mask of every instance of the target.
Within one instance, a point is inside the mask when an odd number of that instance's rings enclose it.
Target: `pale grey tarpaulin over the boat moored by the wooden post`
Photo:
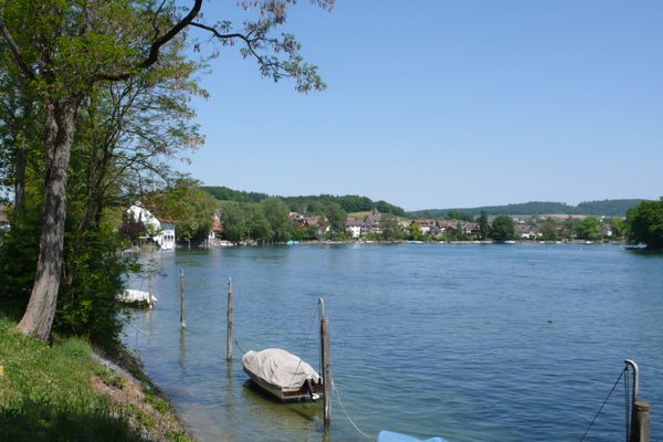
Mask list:
[[[242,356],[244,369],[283,391],[298,390],[306,379],[319,382],[320,376],[302,358],[281,348],[246,351]]]

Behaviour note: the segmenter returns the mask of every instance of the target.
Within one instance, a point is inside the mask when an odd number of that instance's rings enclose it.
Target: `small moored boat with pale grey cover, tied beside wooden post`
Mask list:
[[[317,371],[281,348],[246,351],[242,366],[251,380],[281,401],[316,400],[323,394]]]

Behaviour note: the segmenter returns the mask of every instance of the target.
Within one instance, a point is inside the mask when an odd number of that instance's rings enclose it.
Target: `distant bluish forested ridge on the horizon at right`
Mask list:
[[[408,214],[417,217],[430,217],[430,218],[443,218],[448,212],[462,212],[471,215],[477,215],[482,211],[488,214],[524,214],[524,215],[541,215],[552,213],[564,214],[591,214],[591,215],[607,215],[607,217],[624,217],[627,211],[632,207],[640,203],[639,199],[632,200],[602,200],[602,201],[587,201],[581,202],[578,206],[569,206],[564,202],[548,202],[548,201],[532,201],[519,204],[506,204],[506,206],[486,206],[477,208],[466,209],[431,209],[431,210],[419,210],[415,212],[409,212]]]

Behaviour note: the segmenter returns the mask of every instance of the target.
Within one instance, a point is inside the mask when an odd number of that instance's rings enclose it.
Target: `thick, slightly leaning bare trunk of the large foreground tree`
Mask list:
[[[78,103],[78,98],[70,97],[45,106],[46,176],[39,260],[30,302],[17,327],[25,335],[43,340],[51,335],[60,288],[66,219],[66,171]]]

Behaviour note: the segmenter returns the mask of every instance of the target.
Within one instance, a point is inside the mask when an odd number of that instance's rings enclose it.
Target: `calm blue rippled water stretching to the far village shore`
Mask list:
[[[242,349],[318,366],[326,299],[348,414],[460,441],[578,441],[624,358],[641,367],[652,440],[663,425],[663,256],[601,245],[298,245],[155,255],[154,312],[125,337],[203,441],[322,441],[322,406],[278,404],[246,382]],[[187,329],[179,327],[179,269]],[[228,278],[235,360],[225,362]],[[135,286],[135,288],[140,288]],[[143,290],[147,290],[144,284]],[[335,398],[332,440],[367,440]],[[588,441],[624,440],[620,385]]]

